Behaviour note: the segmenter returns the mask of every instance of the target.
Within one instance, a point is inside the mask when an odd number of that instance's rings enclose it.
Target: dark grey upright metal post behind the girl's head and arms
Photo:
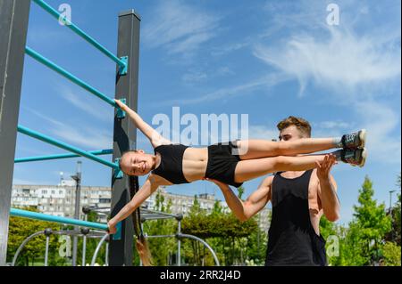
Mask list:
[[[119,76],[116,68],[116,99],[126,99],[132,110],[137,110],[138,103],[138,61],[139,61],[139,26],[140,18],[134,10],[121,12],[119,15],[118,57],[128,56],[128,73]],[[135,148],[137,129],[129,118],[120,119],[114,113],[113,160],[121,154]],[[112,174],[113,176],[113,174]],[[129,178],[112,178],[112,209],[116,215],[130,201]],[[132,217],[121,223],[121,239],[110,239],[109,265],[131,266],[133,258],[134,227]]]

